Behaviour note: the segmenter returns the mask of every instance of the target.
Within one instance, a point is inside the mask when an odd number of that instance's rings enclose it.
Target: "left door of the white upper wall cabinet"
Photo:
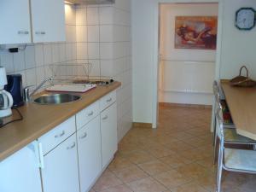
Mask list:
[[[0,44],[31,43],[29,0],[0,1]]]

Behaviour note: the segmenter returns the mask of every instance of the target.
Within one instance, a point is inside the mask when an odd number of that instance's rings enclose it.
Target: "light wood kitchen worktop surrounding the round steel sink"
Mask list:
[[[0,128],[0,161],[20,148],[26,147],[56,125],[60,125],[102,96],[119,88],[120,85],[119,82],[114,82],[107,86],[97,86],[84,94],[76,94],[81,96],[81,99],[76,102],[60,105],[39,105],[29,102],[20,107],[19,110],[24,119]],[[15,116],[16,112],[13,113]]]

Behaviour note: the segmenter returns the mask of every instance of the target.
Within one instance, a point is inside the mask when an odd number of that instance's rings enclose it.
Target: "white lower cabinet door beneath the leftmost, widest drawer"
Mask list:
[[[44,192],[79,192],[76,144],[74,134],[44,156],[44,167],[42,168]]]

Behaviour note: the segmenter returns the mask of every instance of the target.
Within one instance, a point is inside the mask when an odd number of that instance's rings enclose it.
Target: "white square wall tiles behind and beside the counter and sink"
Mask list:
[[[131,1],[114,5],[65,5],[67,41],[27,44],[24,51],[0,50],[7,73],[21,73],[23,84],[39,84],[52,75],[51,64],[91,62],[91,76],[122,82],[118,90],[119,139],[131,128]],[[21,46],[22,49],[24,46]]]

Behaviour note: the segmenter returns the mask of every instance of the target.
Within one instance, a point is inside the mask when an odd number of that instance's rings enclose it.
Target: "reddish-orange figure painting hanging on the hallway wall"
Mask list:
[[[175,49],[216,49],[217,16],[177,16]]]

